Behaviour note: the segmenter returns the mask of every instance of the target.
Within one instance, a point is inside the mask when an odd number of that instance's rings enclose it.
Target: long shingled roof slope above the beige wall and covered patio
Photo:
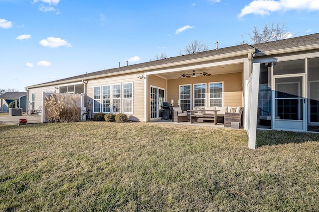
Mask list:
[[[182,56],[177,56],[177,57],[170,57],[166,59],[161,59],[161,60],[154,60],[150,62],[145,62],[145,63],[138,63],[134,65],[129,65],[129,66],[121,66],[120,68],[112,68],[112,69],[106,69],[102,71],[96,71],[96,72],[91,72],[87,74],[82,74],[74,77],[69,77],[69,78],[64,78],[61,80],[56,80],[56,81],[51,81],[47,83],[58,83],[61,81],[68,81],[68,80],[76,80],[76,79],[83,79],[83,78],[91,78],[91,77],[96,77],[99,75],[104,75],[104,74],[111,74],[111,73],[116,73],[116,72],[123,72],[123,71],[129,71],[129,70],[135,70],[135,69],[141,69],[141,68],[147,68],[147,67],[155,67],[159,65],[164,65],[164,64],[172,64],[176,62],[182,62],[182,61],[188,61],[188,60],[193,60],[193,59],[198,59],[198,58],[205,58],[205,57],[211,57],[211,56],[217,56],[217,55],[224,55],[224,54],[229,54],[233,52],[240,52],[240,51],[245,51],[245,50],[252,50],[254,51],[253,47],[251,47],[248,44],[242,44],[242,45],[237,45],[237,46],[231,46],[231,47],[226,47],[226,48],[220,48],[218,50],[209,50],[209,51],[204,51],[204,52],[198,52],[194,54],[188,54],[188,55],[182,55]],[[38,84],[38,85],[44,85],[47,83],[43,84]],[[35,86],[38,86],[35,85]]]

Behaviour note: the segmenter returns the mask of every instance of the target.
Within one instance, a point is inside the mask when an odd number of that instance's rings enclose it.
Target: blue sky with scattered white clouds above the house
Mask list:
[[[285,21],[319,32],[319,0],[0,0],[0,89],[178,56],[192,40],[238,45]]]

